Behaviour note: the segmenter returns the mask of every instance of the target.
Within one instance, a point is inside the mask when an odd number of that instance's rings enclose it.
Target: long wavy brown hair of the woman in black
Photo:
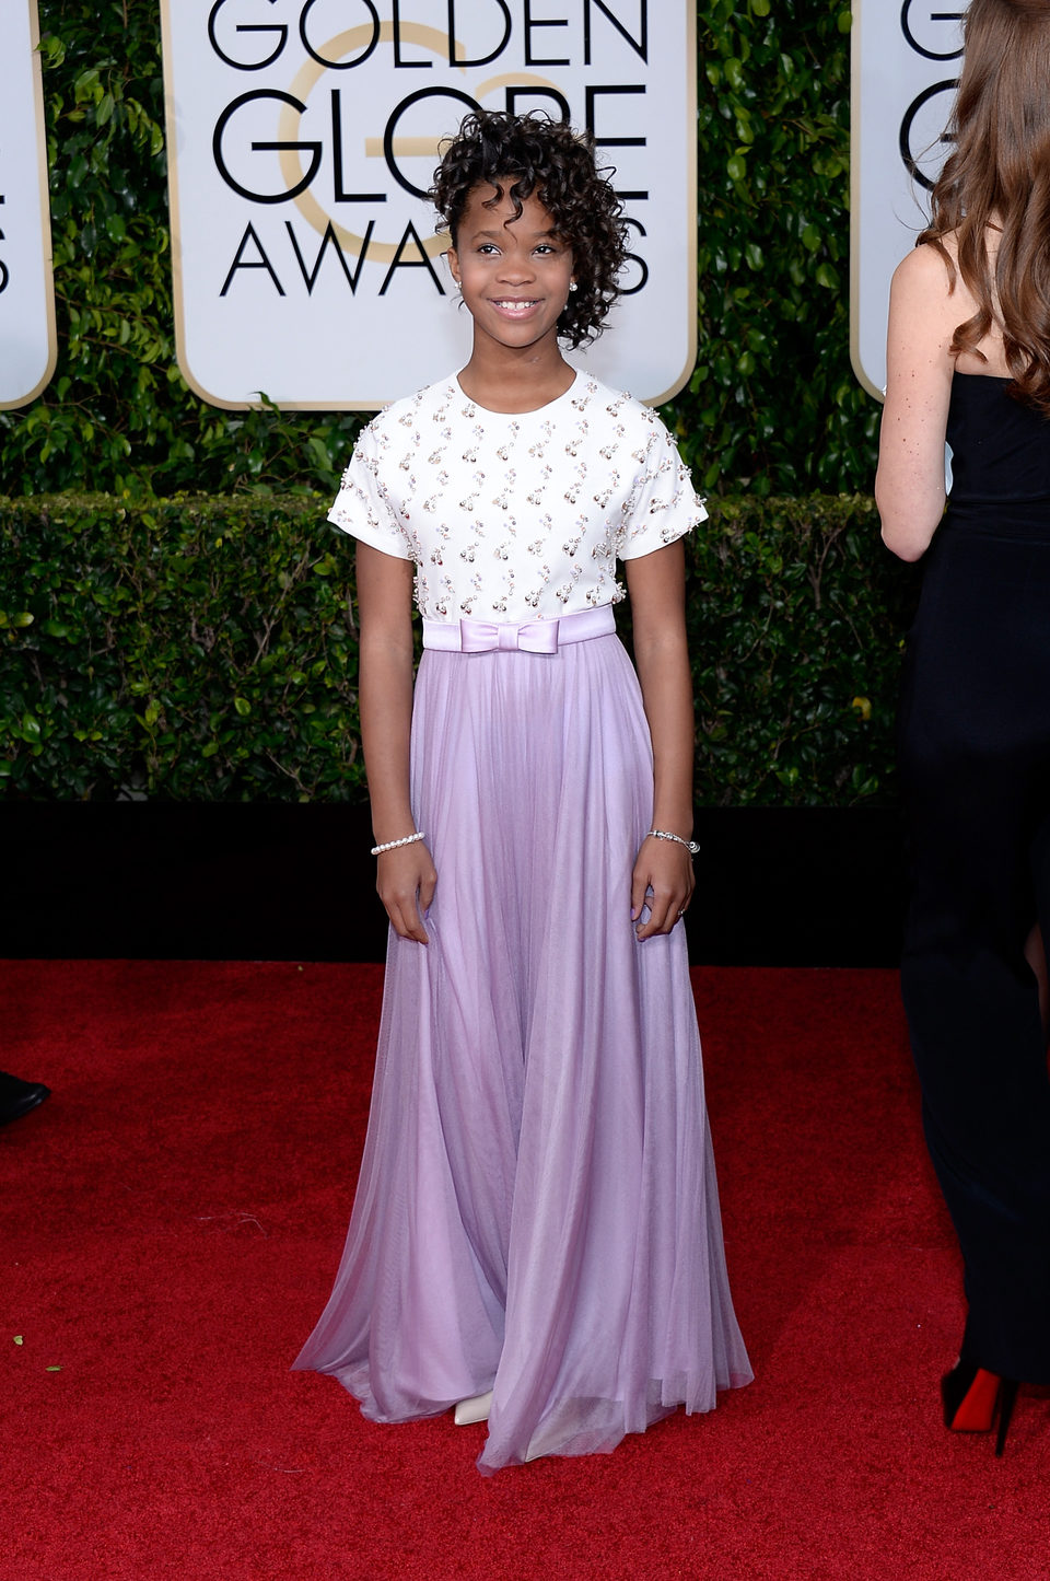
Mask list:
[[[1014,394],[1050,416],[1050,0],[971,0],[950,134],[955,147],[933,188],[919,237],[955,267],[977,311],[950,351],[977,356],[1003,327]],[[987,232],[999,231],[995,262]]]

